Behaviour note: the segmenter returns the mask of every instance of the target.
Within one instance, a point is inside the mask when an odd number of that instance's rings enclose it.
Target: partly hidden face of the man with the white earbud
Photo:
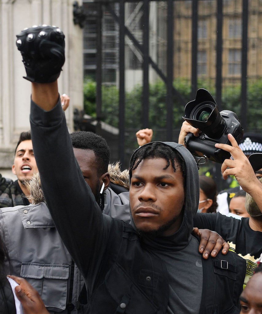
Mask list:
[[[90,186],[96,200],[99,198],[100,177],[97,174],[96,155],[91,149],[74,148],[74,155],[85,182]]]

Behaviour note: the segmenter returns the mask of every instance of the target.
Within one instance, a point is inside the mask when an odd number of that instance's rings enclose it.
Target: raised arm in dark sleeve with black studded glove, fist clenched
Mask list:
[[[42,32],[47,33],[43,38]],[[30,49],[28,36],[35,36]],[[64,244],[85,276],[99,268],[111,220],[101,214],[74,158],[57,89],[64,60],[61,36],[57,28],[36,27],[22,31],[18,40],[26,62],[26,79],[32,82],[31,134],[46,203]],[[55,70],[54,63],[59,64]]]

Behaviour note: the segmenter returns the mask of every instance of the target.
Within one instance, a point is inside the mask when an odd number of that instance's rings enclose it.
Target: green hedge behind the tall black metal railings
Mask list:
[[[183,122],[184,107],[191,99],[190,82],[187,79],[176,79],[173,86],[183,96],[185,103],[173,99],[173,126],[180,128]],[[214,87],[208,81],[199,81],[198,86],[209,90],[216,99]],[[166,86],[162,81],[149,86],[149,126],[151,128],[166,127]],[[241,121],[240,85],[227,86],[222,91],[222,109],[234,111]],[[135,86],[131,92],[126,92],[125,127],[141,128],[142,86]],[[249,130],[262,128],[262,79],[248,84],[247,125]],[[84,82],[84,111],[96,117],[96,83],[86,79]],[[118,89],[115,86],[102,86],[103,121],[118,126]]]

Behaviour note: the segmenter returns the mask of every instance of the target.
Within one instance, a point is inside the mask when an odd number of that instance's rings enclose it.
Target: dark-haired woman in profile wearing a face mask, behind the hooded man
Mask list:
[[[216,213],[216,182],[207,176],[199,176],[198,213]]]

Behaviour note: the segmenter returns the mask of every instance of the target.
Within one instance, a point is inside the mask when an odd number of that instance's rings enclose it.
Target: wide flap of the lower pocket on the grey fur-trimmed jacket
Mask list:
[[[68,279],[69,265],[21,263],[20,275],[24,278],[34,279]]]

